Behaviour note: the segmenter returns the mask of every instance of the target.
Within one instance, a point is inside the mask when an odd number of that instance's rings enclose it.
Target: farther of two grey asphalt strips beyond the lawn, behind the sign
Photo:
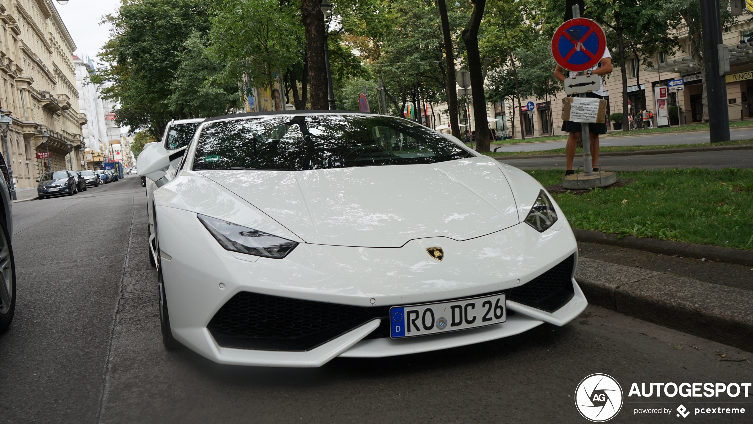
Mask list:
[[[730,139],[745,140],[753,139],[753,127],[730,128]],[[688,131],[676,133],[647,134],[645,136],[604,136],[599,143],[602,146],[649,146],[649,145],[692,145],[708,143],[709,131]],[[503,145],[497,151],[535,151],[564,148],[566,142],[529,142],[512,145]],[[492,146],[496,148],[497,146]]]

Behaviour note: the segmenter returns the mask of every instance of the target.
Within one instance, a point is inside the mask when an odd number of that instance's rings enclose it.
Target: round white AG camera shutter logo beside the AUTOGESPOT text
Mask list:
[[[614,418],[622,404],[622,387],[607,374],[591,374],[575,389],[575,407],[589,421],[604,422]]]

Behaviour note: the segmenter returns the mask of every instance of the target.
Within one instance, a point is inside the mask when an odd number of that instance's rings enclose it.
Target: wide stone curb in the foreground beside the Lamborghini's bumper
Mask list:
[[[589,303],[753,351],[753,291],[580,258]]]

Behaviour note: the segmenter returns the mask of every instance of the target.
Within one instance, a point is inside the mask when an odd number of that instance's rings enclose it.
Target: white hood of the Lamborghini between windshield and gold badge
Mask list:
[[[486,157],[313,171],[200,171],[293,233],[334,246],[465,240],[517,224],[505,175]]]

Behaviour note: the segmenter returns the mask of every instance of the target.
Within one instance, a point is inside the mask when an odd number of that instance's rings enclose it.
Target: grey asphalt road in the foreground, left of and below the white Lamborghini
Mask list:
[[[440,352],[316,369],[217,365],[163,349],[138,177],[16,203],[14,220],[18,304],[0,335],[0,422],[587,422],[572,395],[593,373],[625,395],[633,382],[753,380],[749,352],[599,307],[562,328]],[[627,402],[651,399],[624,399],[611,422],[680,419],[635,415],[646,405]]]

